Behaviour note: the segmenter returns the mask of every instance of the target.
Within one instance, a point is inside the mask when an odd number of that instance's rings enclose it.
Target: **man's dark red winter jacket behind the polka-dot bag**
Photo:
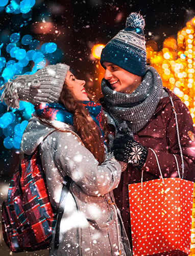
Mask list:
[[[178,118],[180,141],[184,158],[184,179],[195,181],[195,133],[192,118],[184,103],[170,90],[165,89],[169,96],[173,97],[175,110]],[[189,135],[188,134],[192,134]],[[194,137],[194,139],[193,139]],[[139,132],[134,134],[134,139],[148,148],[147,160],[142,167],[143,181],[159,179],[159,168],[152,148],[161,167],[163,177],[178,177],[176,155],[180,173],[181,157],[176,133],[176,121],[170,103],[170,98],[162,98],[150,121]],[[121,180],[114,196],[116,204],[120,209],[124,225],[131,241],[130,215],[129,215],[129,196],[128,184],[141,182],[142,170],[128,165],[125,172],[121,175]]]

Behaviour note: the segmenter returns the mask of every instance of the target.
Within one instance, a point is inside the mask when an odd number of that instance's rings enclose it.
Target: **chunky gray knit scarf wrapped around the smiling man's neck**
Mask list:
[[[162,95],[162,81],[157,71],[147,66],[143,81],[131,94],[115,92],[105,79],[102,80],[102,92],[106,109],[114,119],[116,126],[126,120],[133,133],[142,129],[150,120]]]

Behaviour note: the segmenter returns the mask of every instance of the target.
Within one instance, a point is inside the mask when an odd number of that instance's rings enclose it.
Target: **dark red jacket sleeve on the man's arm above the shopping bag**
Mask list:
[[[180,100],[176,100],[174,104],[177,112],[180,143],[185,166],[184,179],[195,181],[195,133],[192,118],[184,103]],[[170,111],[172,113],[166,130],[168,152],[148,148],[147,160],[142,167],[143,170],[156,175],[159,170],[159,164],[162,175],[165,178],[177,176],[177,165],[180,173],[182,173],[182,161],[176,131],[176,121],[172,109],[170,109]]]

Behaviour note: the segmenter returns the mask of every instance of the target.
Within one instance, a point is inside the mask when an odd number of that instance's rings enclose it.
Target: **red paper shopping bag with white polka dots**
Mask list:
[[[181,178],[129,184],[133,255],[189,254],[192,199]]]

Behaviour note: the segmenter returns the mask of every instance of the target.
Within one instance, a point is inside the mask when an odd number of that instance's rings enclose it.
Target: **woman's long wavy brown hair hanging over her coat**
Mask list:
[[[76,132],[83,141],[85,147],[93,154],[99,164],[105,160],[104,139],[107,142],[108,130],[106,117],[103,115],[103,132],[105,138],[101,134],[100,128],[90,117],[89,111],[76,99],[74,93],[68,88],[64,82],[62,92],[60,94],[59,103],[63,104],[72,114]]]

